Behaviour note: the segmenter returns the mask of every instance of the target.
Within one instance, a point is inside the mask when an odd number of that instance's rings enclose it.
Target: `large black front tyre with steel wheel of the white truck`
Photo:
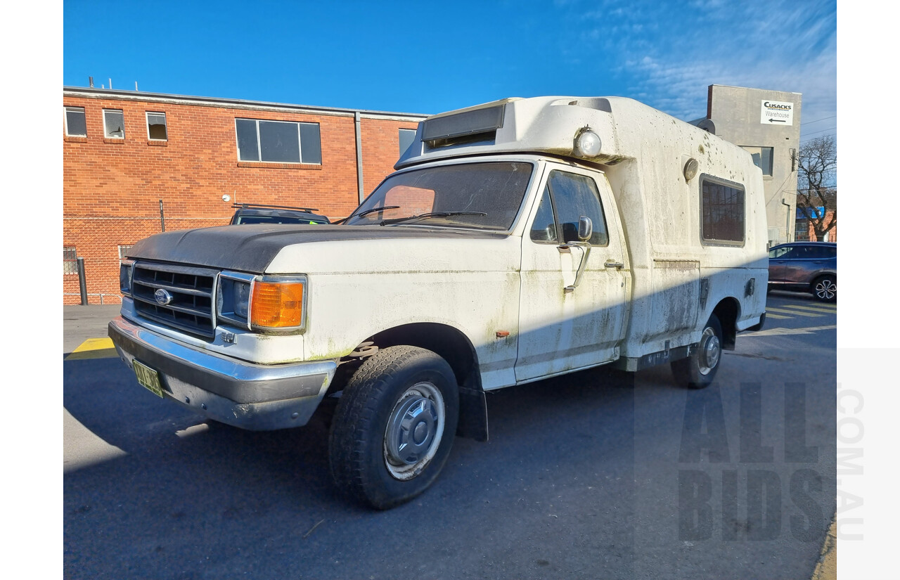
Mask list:
[[[347,382],[329,434],[338,488],[376,509],[428,489],[456,433],[459,392],[450,365],[414,346],[385,348]]]

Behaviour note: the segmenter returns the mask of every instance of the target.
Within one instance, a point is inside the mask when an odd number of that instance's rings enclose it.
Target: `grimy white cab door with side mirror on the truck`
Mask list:
[[[522,237],[517,382],[615,360],[625,335],[627,255],[606,175],[548,163],[532,213]],[[593,233],[573,245],[581,216]]]

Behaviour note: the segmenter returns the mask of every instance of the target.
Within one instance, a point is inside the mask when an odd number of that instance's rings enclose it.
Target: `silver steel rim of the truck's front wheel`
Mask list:
[[[384,466],[395,479],[419,475],[434,459],[444,436],[444,396],[434,383],[422,381],[397,399],[384,429]]]

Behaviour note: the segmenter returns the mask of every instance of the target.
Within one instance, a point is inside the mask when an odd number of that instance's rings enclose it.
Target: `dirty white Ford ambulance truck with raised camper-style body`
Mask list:
[[[252,430],[337,400],[335,482],[387,508],[435,480],[456,434],[487,439],[487,391],[662,363],[701,388],[762,326],[760,169],[642,103],[446,112],[395,168],[342,225],[134,245],[109,335],[139,384]]]

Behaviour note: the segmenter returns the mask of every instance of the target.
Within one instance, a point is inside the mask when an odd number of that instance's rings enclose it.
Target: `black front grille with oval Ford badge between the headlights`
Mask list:
[[[215,336],[215,281],[219,272],[168,263],[135,263],[134,308],[142,317],[204,338]],[[157,300],[157,290],[165,304]]]

